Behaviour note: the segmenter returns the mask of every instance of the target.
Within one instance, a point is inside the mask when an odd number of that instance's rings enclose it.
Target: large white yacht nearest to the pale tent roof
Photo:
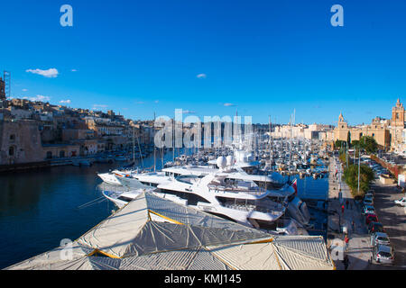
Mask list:
[[[135,181],[132,182],[133,185]],[[106,198],[121,207],[142,193],[143,189],[153,189],[152,193],[163,198],[256,228],[271,225],[286,211],[286,205],[273,202],[267,197],[269,192],[250,182],[242,180],[229,182],[226,176],[221,174],[204,177],[180,175],[167,183],[158,184],[156,188],[138,182],[138,187],[135,188],[134,185],[128,192],[103,193]]]

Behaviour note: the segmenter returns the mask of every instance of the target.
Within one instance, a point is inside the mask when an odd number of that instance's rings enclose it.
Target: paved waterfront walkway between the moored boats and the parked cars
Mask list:
[[[329,178],[328,178],[328,247],[334,239],[341,239],[344,245],[343,227],[346,227],[348,233],[348,248],[345,255],[348,256],[348,270],[363,270],[368,269],[371,259],[372,248],[370,245],[370,237],[364,222],[364,217],[361,213],[361,205],[355,202],[353,196],[346,183],[340,181],[343,173],[341,164],[338,158],[330,157]],[[336,170],[337,169],[337,170]],[[337,171],[337,178],[336,178]],[[341,188],[342,198],[339,198]],[[348,201],[348,207],[346,207]],[[342,205],[345,209],[342,212]],[[354,227],[352,225],[354,220]],[[336,244],[337,245],[337,244]],[[334,261],[337,270],[343,270],[342,261]]]

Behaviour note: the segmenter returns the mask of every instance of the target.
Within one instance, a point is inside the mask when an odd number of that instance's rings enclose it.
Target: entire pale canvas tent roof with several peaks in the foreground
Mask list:
[[[334,268],[321,237],[273,236],[152,193],[140,194],[73,242],[71,258],[64,253],[58,247],[8,269]]]

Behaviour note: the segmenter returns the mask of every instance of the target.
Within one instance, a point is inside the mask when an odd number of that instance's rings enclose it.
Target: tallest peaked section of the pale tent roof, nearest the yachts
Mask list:
[[[109,257],[128,257],[271,237],[257,229],[143,193],[78,238],[78,243]]]

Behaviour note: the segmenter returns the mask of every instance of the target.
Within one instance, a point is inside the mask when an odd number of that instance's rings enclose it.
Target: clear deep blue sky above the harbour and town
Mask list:
[[[333,4],[344,27],[330,24]],[[0,69],[14,97],[132,119],[181,108],[288,122],[296,109],[296,122],[366,123],[406,92],[405,12],[402,0],[2,1]],[[50,68],[58,76],[26,72]]]

